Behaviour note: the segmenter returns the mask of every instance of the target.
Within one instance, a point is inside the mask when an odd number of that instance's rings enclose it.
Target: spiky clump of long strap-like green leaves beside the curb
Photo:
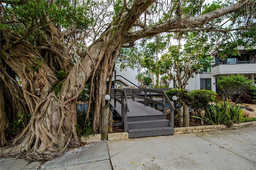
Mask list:
[[[239,105],[231,106],[230,102],[218,102],[205,108],[204,116],[192,116],[204,120],[212,125],[226,124],[232,126],[234,123],[242,123],[244,121],[243,110]]]

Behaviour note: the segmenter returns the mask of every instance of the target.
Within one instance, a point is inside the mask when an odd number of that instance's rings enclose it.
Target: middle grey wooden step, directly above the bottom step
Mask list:
[[[150,120],[135,120],[135,121],[128,121],[129,129],[136,129],[136,128],[154,128],[154,127],[162,127],[169,125],[168,119],[150,119]]]

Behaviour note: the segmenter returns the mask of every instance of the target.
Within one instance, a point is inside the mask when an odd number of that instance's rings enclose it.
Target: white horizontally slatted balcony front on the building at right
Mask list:
[[[231,61],[212,65],[212,76],[222,74],[256,74],[256,61]]]

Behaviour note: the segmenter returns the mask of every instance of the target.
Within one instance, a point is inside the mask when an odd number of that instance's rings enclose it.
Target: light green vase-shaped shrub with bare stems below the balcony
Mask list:
[[[243,74],[229,76],[220,76],[217,80],[217,85],[219,89],[224,93],[225,98],[232,102],[234,96],[239,94],[236,102],[239,102],[241,97],[246,93],[250,86],[252,86],[252,81],[246,78]]]

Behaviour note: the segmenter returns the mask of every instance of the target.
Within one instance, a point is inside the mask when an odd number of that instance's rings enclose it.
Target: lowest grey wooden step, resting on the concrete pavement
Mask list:
[[[155,128],[137,128],[137,129],[129,129],[128,132],[129,132],[129,138],[173,135],[174,128],[170,126],[155,127]]]

